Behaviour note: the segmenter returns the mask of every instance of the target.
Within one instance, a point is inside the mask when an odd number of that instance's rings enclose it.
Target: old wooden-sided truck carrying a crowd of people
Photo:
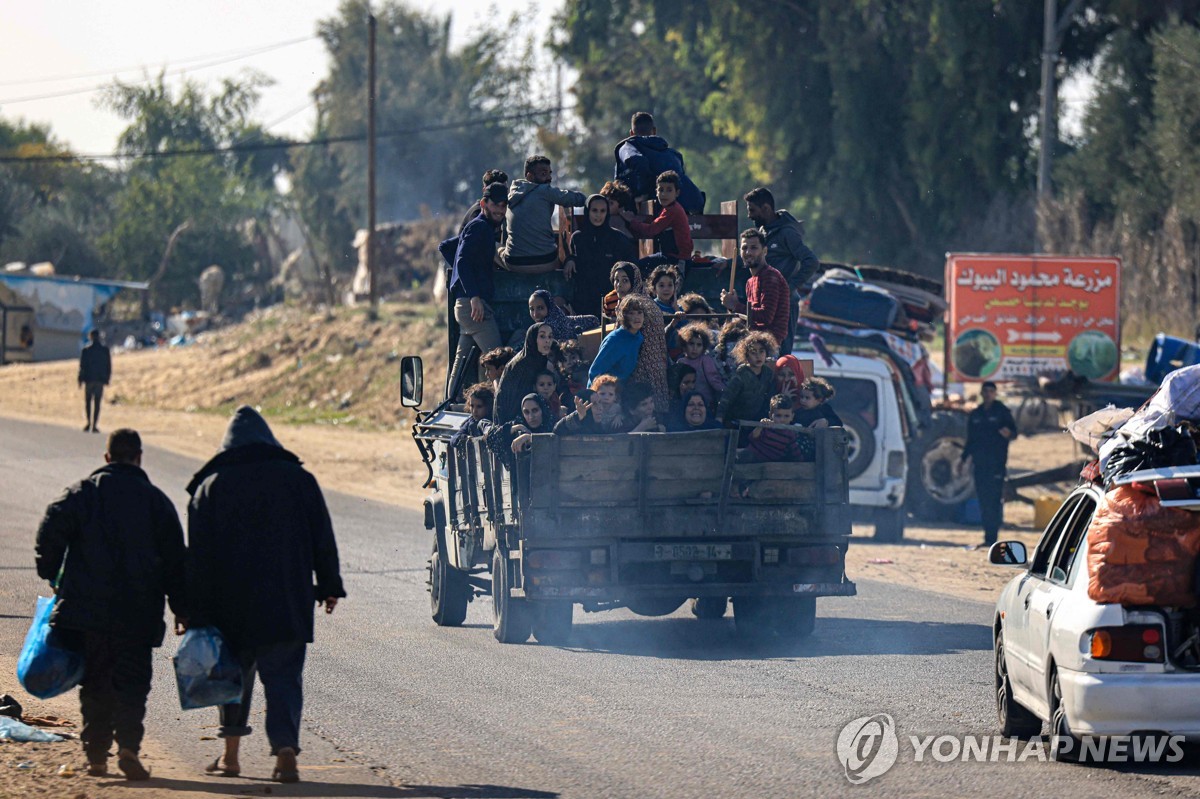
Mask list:
[[[695,238],[736,236],[737,216],[694,216]],[[695,268],[684,290],[719,295],[725,277]],[[744,283],[744,276],[740,278]],[[498,272],[492,310],[508,340],[529,324],[536,288],[563,295],[560,272]],[[744,292],[744,289],[743,289]],[[712,300],[710,300],[712,301]],[[452,314],[446,358],[457,341]],[[738,429],[560,437],[535,434],[509,469],[482,438],[451,443],[468,417],[446,385],[430,410],[424,364],[401,359],[401,401],[416,409],[413,439],[428,469],[430,613],[457,626],[492,599],[497,641],[560,643],[575,606],[668,615],[689,600],[749,639],[809,635],[821,596],[853,596],[841,428],[805,431],[814,457],[737,463]]]

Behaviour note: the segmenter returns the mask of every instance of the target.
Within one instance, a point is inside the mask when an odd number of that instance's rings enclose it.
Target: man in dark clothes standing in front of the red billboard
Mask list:
[[[971,461],[983,517],[983,542],[991,546],[1004,521],[1004,471],[1008,443],[1016,438],[1012,411],[996,400],[996,384],[988,380],[980,391],[979,407],[967,416],[967,445],[962,459]]]

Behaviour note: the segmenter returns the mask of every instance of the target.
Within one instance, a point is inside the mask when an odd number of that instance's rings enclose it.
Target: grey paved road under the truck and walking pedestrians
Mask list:
[[[38,590],[29,564],[41,510],[97,464],[100,438],[0,420],[5,645],[19,639]],[[150,451],[145,465],[182,509],[197,463]],[[739,643],[730,619],[578,609],[569,647],[502,647],[487,600],[472,605],[463,629],[430,621],[418,512],[340,494],[329,504],[349,599],[318,619],[302,763],[329,769],[306,780],[349,768],[337,759],[371,779],[342,777],[328,795],[1200,795],[1194,756],[1123,769],[913,762],[908,735],[995,733],[986,605],[860,583],[858,597],[818,602],[815,637],[784,651]],[[158,659],[149,729],[198,761],[216,747],[197,743],[211,720],[179,713],[173,648]],[[895,719],[899,762],[851,786],[838,732],[876,713]],[[247,741],[256,746],[265,741]]]

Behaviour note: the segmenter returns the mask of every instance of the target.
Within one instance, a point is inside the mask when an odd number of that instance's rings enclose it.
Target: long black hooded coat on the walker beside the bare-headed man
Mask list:
[[[316,601],[346,590],[325,499],[300,458],[242,405],[187,493],[191,624],[215,625],[234,651],[312,642]]]

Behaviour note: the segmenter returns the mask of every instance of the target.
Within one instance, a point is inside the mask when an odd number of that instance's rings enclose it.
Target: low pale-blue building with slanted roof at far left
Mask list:
[[[0,272],[0,364],[79,356],[88,331],[121,289],[146,283]]]

